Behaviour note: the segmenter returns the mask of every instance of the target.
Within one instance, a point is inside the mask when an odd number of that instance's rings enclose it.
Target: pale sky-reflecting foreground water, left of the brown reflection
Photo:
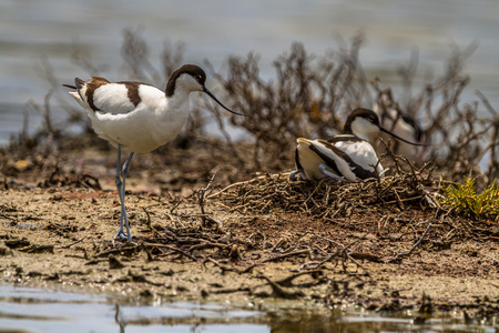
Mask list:
[[[263,312],[214,304],[126,305],[95,294],[0,285],[0,332],[268,332]]]

